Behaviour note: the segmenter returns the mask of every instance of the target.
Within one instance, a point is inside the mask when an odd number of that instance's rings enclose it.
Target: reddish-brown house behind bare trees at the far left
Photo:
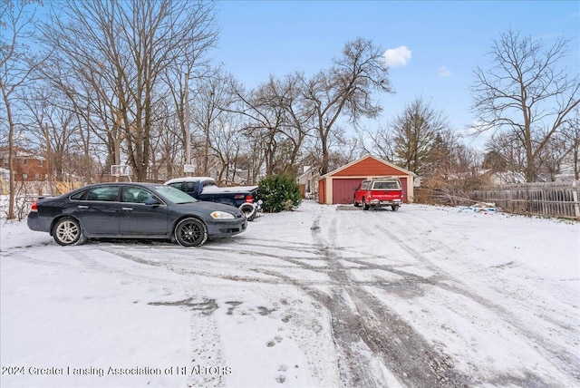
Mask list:
[[[8,149],[0,149],[0,168],[9,169]],[[14,148],[14,180],[31,182],[48,178],[45,158],[33,150]]]

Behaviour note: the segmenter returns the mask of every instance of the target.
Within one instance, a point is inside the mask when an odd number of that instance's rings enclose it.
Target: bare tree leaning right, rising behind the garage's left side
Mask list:
[[[305,91],[320,141],[322,174],[329,170],[329,142],[339,118],[348,117],[355,125],[362,117],[376,118],[382,108],[373,101],[372,92],[392,92],[382,50],[372,41],[358,38],[345,44],[343,56],[333,63],[329,71],[316,74]]]

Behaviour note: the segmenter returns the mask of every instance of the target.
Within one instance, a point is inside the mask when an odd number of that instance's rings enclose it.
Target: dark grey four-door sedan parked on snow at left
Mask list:
[[[164,238],[198,247],[208,238],[246,230],[241,210],[202,202],[153,183],[100,183],[60,197],[37,199],[28,228],[48,232],[63,246],[87,238]]]

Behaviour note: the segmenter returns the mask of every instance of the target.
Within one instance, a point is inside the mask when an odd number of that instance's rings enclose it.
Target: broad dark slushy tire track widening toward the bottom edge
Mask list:
[[[314,219],[311,229],[315,246],[329,262],[333,296],[312,290],[309,294],[331,314],[343,383],[384,386],[390,376],[373,361],[375,358],[404,386],[459,387],[473,383],[468,376],[454,370],[449,359],[433,349],[410,325],[351,281],[347,269],[340,263],[342,257],[335,240],[337,216],[333,216],[329,229],[324,231],[320,219],[321,216]]]

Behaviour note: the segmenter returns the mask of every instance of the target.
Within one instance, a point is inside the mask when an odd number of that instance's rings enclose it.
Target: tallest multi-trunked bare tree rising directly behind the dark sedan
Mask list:
[[[135,178],[147,179],[153,127],[161,120],[155,105],[162,103],[167,85],[162,74],[184,58],[191,65],[215,42],[213,5],[131,0],[59,7],[52,24],[43,25],[43,43],[55,48],[59,69],[78,74],[76,82],[96,91],[93,109],[106,122],[101,136],[111,163],[121,163],[122,142]]]

